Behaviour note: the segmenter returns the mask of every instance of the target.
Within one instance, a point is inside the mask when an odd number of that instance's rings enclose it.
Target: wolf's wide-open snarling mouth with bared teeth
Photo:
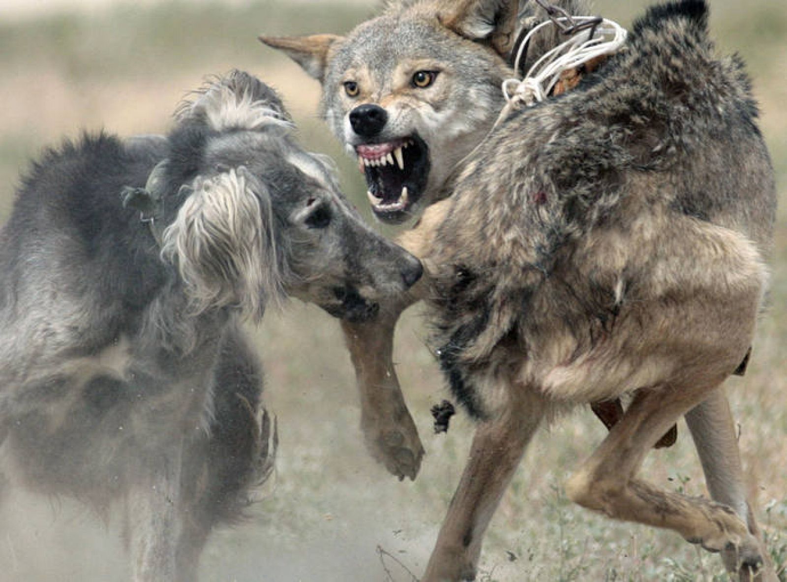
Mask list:
[[[386,143],[364,143],[355,150],[375,215],[381,221],[405,221],[427,185],[426,142],[418,135],[411,135]]]

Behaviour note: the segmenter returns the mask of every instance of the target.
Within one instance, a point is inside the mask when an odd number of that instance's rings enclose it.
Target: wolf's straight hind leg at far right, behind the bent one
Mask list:
[[[760,573],[751,578],[757,582],[778,582],[773,562],[765,546],[762,532],[746,500],[746,487],[737,446],[735,424],[723,388],[686,414],[697,454],[705,473],[711,498],[735,510],[748,525],[748,531],[759,541],[760,555],[765,562]],[[736,569],[737,552],[722,550],[727,569]],[[748,575],[748,573],[746,573]],[[741,580],[749,580],[741,576]]]

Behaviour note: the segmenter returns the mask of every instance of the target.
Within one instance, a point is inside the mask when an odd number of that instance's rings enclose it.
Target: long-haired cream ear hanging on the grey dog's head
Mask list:
[[[195,313],[232,306],[261,317],[266,302],[284,296],[264,185],[238,168],[198,176],[182,194],[187,198],[164,230],[161,254],[176,265]]]

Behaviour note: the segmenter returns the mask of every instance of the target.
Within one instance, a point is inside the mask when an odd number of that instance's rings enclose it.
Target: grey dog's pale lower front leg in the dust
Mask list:
[[[180,458],[167,458],[135,476],[127,499],[134,582],[176,578],[176,547],[183,534],[179,516]]]

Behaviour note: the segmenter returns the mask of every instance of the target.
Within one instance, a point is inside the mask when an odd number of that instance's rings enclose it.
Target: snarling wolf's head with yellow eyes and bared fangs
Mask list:
[[[504,105],[515,0],[403,0],[346,37],[260,37],[323,85],[321,112],[357,155],[375,215],[417,217]]]

